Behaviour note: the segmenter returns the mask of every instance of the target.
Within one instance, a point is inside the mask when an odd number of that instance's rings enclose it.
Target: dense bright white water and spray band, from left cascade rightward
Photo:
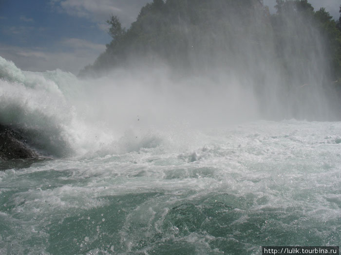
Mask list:
[[[29,143],[52,156],[122,153],[148,147],[158,140],[155,130],[177,133],[259,115],[252,90],[233,78],[210,86],[209,78],[174,80],[160,67],[79,80],[61,70],[22,71],[3,58],[0,69],[0,123],[23,129]]]

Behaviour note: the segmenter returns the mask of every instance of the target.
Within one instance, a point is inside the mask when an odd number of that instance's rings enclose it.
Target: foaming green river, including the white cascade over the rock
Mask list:
[[[68,106],[75,93],[56,78],[71,84],[71,74],[24,72],[0,60],[1,123],[29,130],[48,154],[0,161],[0,254],[340,245],[341,122],[130,126],[113,138],[99,124],[84,131],[92,118],[75,120],[84,107]]]

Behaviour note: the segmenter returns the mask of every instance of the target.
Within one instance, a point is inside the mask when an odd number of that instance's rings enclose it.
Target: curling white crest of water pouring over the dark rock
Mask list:
[[[74,113],[58,84],[43,73],[21,71],[3,58],[0,65],[0,124],[21,130],[44,153],[67,153],[67,126]]]

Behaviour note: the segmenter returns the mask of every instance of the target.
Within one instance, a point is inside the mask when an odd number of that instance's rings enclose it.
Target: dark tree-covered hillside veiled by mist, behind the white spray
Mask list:
[[[115,16],[107,21],[112,41],[80,76],[164,63],[173,77],[235,81],[272,116],[269,105],[296,118],[322,104],[339,116],[341,17],[307,0],[276,0],[275,8],[271,15],[261,0],[153,0],[127,30]]]

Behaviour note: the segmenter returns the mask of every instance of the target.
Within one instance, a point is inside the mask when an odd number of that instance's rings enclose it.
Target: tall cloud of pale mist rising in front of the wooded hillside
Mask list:
[[[166,116],[201,124],[339,117],[331,98],[330,52],[309,15],[287,12],[270,20],[256,0],[199,2],[197,10],[178,1],[159,4],[170,9],[160,18],[164,23],[152,22],[160,15],[153,9],[157,1],[147,5],[152,14],[142,9],[128,39],[117,35],[81,76],[104,73],[107,81],[96,88],[105,86],[113,97],[125,93],[120,98],[134,99],[141,111],[159,112],[150,117],[155,121]],[[153,41],[134,34],[137,29]]]

